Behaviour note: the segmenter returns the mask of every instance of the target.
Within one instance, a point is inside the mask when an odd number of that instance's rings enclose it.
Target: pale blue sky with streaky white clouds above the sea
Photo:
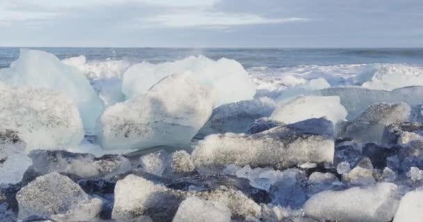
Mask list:
[[[0,46],[423,47],[423,1],[0,0]]]

